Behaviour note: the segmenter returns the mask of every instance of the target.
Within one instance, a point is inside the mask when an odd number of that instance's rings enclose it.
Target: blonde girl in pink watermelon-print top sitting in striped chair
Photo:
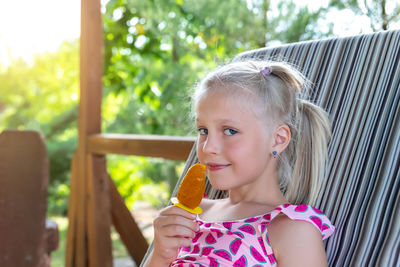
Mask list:
[[[324,174],[330,124],[301,99],[303,76],[280,62],[220,67],[196,88],[197,155],[225,199],[199,216],[178,207],[154,220],[145,266],[327,266],[335,231],[312,205]]]

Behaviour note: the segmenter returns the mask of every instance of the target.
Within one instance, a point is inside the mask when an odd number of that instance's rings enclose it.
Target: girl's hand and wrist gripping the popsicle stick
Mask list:
[[[190,246],[198,231],[195,219],[196,215],[175,206],[161,210],[153,223],[153,251],[144,266],[169,266],[176,259],[179,247]]]

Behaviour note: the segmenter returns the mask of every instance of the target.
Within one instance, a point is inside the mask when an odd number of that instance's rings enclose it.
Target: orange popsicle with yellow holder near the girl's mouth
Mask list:
[[[205,190],[205,172],[206,166],[203,164],[197,163],[189,168],[179,185],[176,198],[171,199],[175,206],[194,214],[202,212],[199,204]]]

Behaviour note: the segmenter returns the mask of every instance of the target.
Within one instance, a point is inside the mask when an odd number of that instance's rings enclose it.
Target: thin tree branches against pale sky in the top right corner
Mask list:
[[[369,17],[375,32],[389,30],[391,24],[400,21],[400,2],[397,0],[331,0],[329,5]]]

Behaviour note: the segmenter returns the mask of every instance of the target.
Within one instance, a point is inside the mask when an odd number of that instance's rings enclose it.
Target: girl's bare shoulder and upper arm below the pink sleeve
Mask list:
[[[282,214],[272,220],[268,236],[280,267],[328,266],[321,233],[311,223]]]

